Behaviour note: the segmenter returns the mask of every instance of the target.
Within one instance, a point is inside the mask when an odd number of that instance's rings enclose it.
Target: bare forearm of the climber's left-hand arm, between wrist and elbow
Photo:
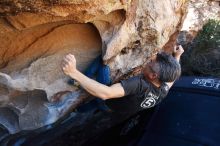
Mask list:
[[[88,91],[90,94],[102,98],[102,99],[106,99],[107,96],[109,96],[110,94],[110,90],[111,88],[104,85],[104,84],[100,84],[99,82],[88,78],[87,76],[85,76],[84,74],[82,74],[80,71],[75,70],[74,72],[72,72],[70,74],[70,77],[77,80],[79,82],[79,84],[86,90]]]

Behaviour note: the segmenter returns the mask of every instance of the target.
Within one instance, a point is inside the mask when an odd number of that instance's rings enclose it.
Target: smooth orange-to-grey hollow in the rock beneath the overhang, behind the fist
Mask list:
[[[90,24],[57,22],[3,33],[0,48],[1,72],[11,76],[13,88],[42,89],[50,97],[72,88],[61,70],[63,57],[75,54],[83,71],[101,53],[101,38]]]

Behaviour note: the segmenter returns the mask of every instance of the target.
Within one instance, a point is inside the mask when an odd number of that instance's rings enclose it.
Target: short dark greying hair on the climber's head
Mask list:
[[[160,68],[159,80],[161,82],[173,82],[180,77],[181,66],[172,55],[161,52],[157,54],[156,60]]]

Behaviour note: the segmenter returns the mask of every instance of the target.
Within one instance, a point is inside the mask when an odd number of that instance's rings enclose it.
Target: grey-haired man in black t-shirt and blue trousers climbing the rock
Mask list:
[[[86,71],[86,75],[76,68],[76,59],[72,54],[64,57],[62,69],[90,94],[100,98],[110,111],[136,113],[155,106],[165,98],[181,74],[179,60],[183,52],[179,45],[174,47],[173,56],[158,53],[145,65],[141,74],[113,85],[110,85],[110,69],[102,64],[100,56]],[[97,81],[92,79],[95,73]]]

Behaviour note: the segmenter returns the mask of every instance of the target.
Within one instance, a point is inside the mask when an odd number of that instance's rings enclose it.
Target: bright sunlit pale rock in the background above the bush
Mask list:
[[[219,0],[190,0],[178,41],[186,46],[210,19],[220,20]],[[187,47],[187,46],[186,46]]]

